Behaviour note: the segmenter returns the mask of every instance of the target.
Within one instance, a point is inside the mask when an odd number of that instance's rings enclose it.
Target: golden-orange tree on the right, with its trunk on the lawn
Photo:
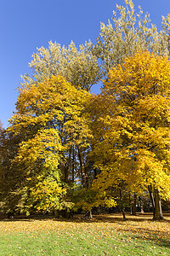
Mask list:
[[[149,51],[112,68],[95,98],[94,186],[126,183],[129,192],[150,189],[154,218],[161,218],[159,196],[170,196],[170,62]],[[153,196],[152,196],[153,195]]]

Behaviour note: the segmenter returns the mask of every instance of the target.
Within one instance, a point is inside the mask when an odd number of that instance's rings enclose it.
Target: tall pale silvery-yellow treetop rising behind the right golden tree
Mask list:
[[[170,55],[170,16],[162,17],[162,29],[158,32],[150,15],[144,15],[140,7],[136,11],[132,0],[124,3],[124,6],[116,5],[107,25],[101,22],[99,38],[94,45],[94,55],[99,58],[106,77],[112,67],[137,51],[150,49],[156,55]]]

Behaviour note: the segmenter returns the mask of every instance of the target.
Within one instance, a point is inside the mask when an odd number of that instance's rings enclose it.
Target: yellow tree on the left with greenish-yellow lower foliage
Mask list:
[[[10,191],[13,195],[17,191],[18,208],[29,212],[72,207],[67,193],[71,181],[68,163],[73,146],[88,147],[91,134],[85,108],[90,96],[60,76],[20,88],[8,127],[8,134],[20,137],[10,166],[14,177],[20,173]],[[10,180],[8,183],[10,186]]]

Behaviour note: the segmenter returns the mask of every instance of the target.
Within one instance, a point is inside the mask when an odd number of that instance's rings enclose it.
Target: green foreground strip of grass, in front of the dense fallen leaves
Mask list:
[[[74,234],[14,234],[0,236],[0,255],[170,255],[167,241],[141,240],[111,232],[102,236],[75,231]]]

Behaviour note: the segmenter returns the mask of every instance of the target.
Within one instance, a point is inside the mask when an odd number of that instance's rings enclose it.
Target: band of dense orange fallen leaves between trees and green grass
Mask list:
[[[98,236],[105,236],[105,234],[113,234],[116,231],[117,234],[126,235],[128,232],[128,239],[131,240],[130,235],[136,234],[142,239],[167,239],[169,241],[169,215],[165,214],[165,220],[162,222],[154,222],[151,214],[144,214],[138,216],[127,215],[127,221],[122,220],[121,214],[114,215],[98,215],[94,216],[91,222],[84,222],[80,218],[73,218],[72,221],[56,221],[54,218],[46,218],[41,220],[28,219],[17,221],[1,221],[0,232],[8,233],[31,233],[35,236],[35,232],[55,232],[59,234],[59,230],[63,232],[71,232],[71,236],[74,236],[75,231],[79,232],[83,230],[85,233],[92,233]],[[37,235],[37,234],[36,234]],[[99,239],[97,237],[96,239]]]

